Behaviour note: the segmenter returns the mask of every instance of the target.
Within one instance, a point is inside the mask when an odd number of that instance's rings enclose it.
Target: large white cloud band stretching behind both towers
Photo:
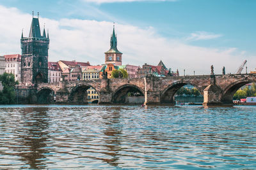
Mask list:
[[[21,13],[16,8],[0,6],[0,55],[20,53],[20,36],[28,36],[31,15]],[[40,18],[40,25],[49,28],[49,61],[73,60],[91,64],[103,64],[104,52],[109,50],[109,40],[113,31],[111,22],[95,20],[67,19],[52,20]],[[183,74],[209,74],[211,65],[215,73],[236,71],[244,60],[246,52],[236,48],[205,48],[187,45],[179,39],[166,39],[157,34],[154,27],[141,29],[133,25],[116,25],[118,50],[123,54],[123,64],[142,66],[158,64],[163,60],[167,67],[179,69]],[[247,58],[248,70],[254,69],[256,57]]]

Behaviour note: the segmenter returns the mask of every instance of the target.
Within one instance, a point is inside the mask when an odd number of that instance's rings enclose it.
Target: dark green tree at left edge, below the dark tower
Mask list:
[[[15,81],[14,75],[11,73],[4,73],[0,75],[0,81],[3,85],[3,90],[0,92],[0,104],[14,104],[15,103],[15,85],[19,81]]]

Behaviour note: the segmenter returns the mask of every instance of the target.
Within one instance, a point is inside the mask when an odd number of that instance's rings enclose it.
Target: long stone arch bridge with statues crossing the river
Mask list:
[[[256,74],[216,74],[145,78],[113,78],[40,83],[38,99],[54,97],[56,103],[86,103],[86,90],[92,87],[99,104],[123,103],[128,92],[145,96],[145,104],[174,104],[174,95],[184,85],[193,85],[204,95],[205,106],[233,105],[235,92],[247,83],[256,82]],[[51,99],[49,99],[51,100]]]

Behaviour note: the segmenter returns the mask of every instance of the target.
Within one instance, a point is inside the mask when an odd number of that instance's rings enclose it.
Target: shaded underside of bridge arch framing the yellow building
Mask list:
[[[88,83],[81,83],[76,85],[75,87],[72,87],[72,89],[70,90],[70,94],[68,96],[68,101],[70,103],[87,104],[88,103],[87,90],[90,88],[94,89],[95,92],[99,95],[99,92],[97,91],[97,89],[95,89],[95,87],[93,87]],[[98,97],[98,101],[99,101],[99,97]]]

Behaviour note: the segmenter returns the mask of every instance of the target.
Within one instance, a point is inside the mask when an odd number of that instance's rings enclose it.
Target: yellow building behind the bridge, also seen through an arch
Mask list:
[[[82,71],[82,80],[95,80],[99,78],[100,70],[103,66],[87,66]],[[87,91],[88,103],[97,103],[99,96],[95,89],[90,87]]]

